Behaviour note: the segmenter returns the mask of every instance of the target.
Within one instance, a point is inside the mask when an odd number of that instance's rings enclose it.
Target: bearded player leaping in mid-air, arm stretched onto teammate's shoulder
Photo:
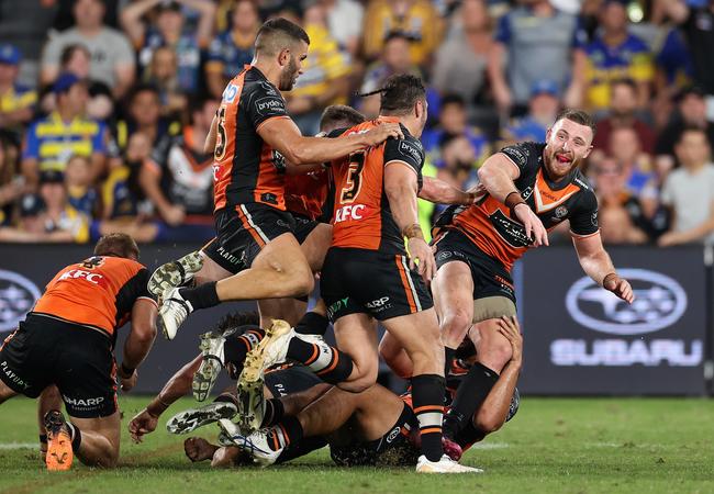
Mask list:
[[[214,151],[216,238],[202,251],[157,269],[149,291],[161,297],[158,325],[168,339],[188,315],[232,300],[304,296],[313,277],[285,205],[287,168],[322,164],[403,137],[395,123],[337,139],[303,137],[280,91],[302,72],[310,38],[285,19],[266,22],[255,59],[223,91],[207,145]],[[288,165],[290,164],[290,165]],[[303,167],[304,172],[310,167]],[[210,281],[180,288],[198,276]]]

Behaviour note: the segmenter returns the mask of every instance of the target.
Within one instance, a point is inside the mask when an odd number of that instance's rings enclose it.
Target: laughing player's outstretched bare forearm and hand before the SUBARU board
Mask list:
[[[572,237],[582,270],[605,290],[632,304],[635,300],[629,282],[620,278],[612,259],[602,245],[600,233],[588,237]]]

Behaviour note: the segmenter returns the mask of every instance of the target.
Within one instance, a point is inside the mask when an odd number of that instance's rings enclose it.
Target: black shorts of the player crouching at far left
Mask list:
[[[30,397],[56,384],[72,417],[116,412],[112,341],[85,326],[29,314],[0,349],[0,379]]]

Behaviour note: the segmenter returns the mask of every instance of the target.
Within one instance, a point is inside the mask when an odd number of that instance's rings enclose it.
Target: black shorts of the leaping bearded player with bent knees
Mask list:
[[[294,231],[295,221],[287,211],[258,203],[227,206],[215,213],[215,238],[203,252],[235,274],[248,269],[269,242]]]

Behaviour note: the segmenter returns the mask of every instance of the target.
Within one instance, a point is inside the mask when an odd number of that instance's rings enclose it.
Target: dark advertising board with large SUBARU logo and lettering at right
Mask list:
[[[633,287],[632,304],[587,277],[571,247],[524,257],[518,386],[542,394],[702,394],[702,249],[607,250]]]

